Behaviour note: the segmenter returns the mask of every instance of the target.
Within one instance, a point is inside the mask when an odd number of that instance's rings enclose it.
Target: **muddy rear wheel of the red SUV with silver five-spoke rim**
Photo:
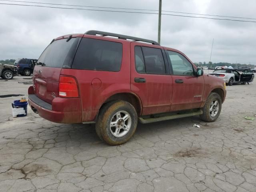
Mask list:
[[[129,102],[109,102],[100,110],[96,121],[96,133],[109,145],[127,142],[138,124],[137,112]]]

